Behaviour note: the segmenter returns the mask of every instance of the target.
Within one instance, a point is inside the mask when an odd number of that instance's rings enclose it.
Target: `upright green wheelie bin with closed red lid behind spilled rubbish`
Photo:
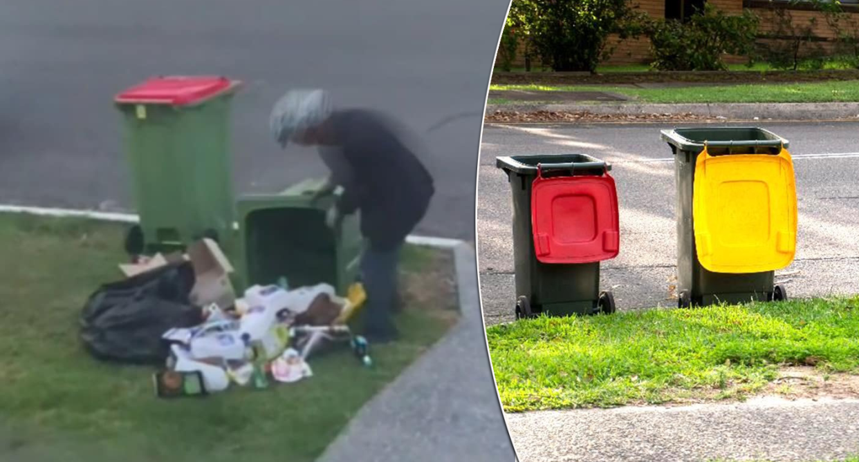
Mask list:
[[[241,82],[214,76],[156,77],[114,99],[125,121],[140,225],[131,255],[170,252],[200,237],[233,250],[230,105]]]

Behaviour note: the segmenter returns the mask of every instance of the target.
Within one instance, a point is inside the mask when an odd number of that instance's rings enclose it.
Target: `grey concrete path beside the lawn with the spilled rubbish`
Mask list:
[[[320,462],[513,462],[486,356],[474,249],[454,248],[462,318],[364,405]]]

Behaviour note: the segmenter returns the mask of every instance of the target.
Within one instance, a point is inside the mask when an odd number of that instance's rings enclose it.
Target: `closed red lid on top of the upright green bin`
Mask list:
[[[119,93],[117,103],[192,105],[210,99],[234,85],[226,77],[171,75],[154,77]]]

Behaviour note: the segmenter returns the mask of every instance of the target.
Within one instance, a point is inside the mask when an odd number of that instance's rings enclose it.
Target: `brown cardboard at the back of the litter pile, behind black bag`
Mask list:
[[[235,269],[227,260],[226,255],[217,243],[211,239],[203,239],[188,246],[186,255],[155,254],[148,261],[137,264],[119,265],[125,277],[131,278],[140,273],[146,273],[168,263],[190,260],[194,267],[196,282],[191,291],[191,302],[204,307],[216,303],[221,309],[228,309],[235,303],[235,289],[229,276]]]

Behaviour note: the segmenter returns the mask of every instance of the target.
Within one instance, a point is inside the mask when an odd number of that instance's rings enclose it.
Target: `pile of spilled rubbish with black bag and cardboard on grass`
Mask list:
[[[331,285],[290,289],[282,278],[237,298],[233,267],[209,239],[186,255],[157,254],[120,269],[127,279],[89,298],[81,338],[95,357],[161,365],[158,396],[300,381],[313,374],[308,357],[332,342],[372,365],[366,340],[346,324],[366,297],[360,284],[338,297]]]

